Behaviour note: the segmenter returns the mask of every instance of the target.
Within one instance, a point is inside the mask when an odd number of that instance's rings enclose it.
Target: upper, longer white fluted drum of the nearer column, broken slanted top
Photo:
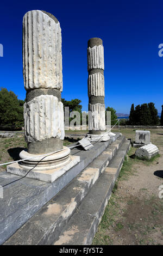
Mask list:
[[[26,90],[62,92],[60,23],[40,10],[28,11],[23,17],[23,77]]]

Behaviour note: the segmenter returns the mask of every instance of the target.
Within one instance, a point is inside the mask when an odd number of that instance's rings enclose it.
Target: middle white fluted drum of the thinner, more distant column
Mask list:
[[[87,87],[88,96],[105,96],[104,75],[100,72],[89,75]]]

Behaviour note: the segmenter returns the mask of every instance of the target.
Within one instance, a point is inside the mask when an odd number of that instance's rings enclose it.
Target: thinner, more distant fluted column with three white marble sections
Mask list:
[[[87,44],[87,80],[89,96],[89,134],[97,141],[108,141],[104,135],[105,125],[105,90],[104,90],[104,47],[102,39],[91,38]]]

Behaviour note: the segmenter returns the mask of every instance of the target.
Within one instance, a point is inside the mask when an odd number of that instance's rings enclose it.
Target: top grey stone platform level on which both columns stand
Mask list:
[[[116,138],[118,136],[119,133],[116,133]],[[71,156],[79,156],[80,162],[52,183],[1,172],[0,185],[3,186],[4,198],[0,199],[0,244],[14,234],[111,143],[111,139],[107,142],[94,143],[89,151],[72,149]],[[71,146],[75,144],[77,143]]]

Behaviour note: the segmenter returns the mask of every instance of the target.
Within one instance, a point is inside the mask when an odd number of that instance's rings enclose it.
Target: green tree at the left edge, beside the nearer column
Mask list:
[[[8,92],[6,88],[0,91],[0,124],[7,126],[22,126],[23,102],[18,100],[14,92]]]

